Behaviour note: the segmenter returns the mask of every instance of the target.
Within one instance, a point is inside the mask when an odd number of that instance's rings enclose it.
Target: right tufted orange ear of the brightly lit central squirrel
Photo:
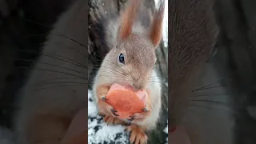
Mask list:
[[[150,25],[150,40],[154,46],[158,46],[162,39],[162,22],[165,10],[165,0],[160,0],[158,10],[154,14],[154,19]]]

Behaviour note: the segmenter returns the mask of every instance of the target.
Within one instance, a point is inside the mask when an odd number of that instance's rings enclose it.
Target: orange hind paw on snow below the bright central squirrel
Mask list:
[[[131,124],[127,126],[127,131],[130,132],[130,143],[134,144],[145,144],[147,143],[147,136],[139,126]]]

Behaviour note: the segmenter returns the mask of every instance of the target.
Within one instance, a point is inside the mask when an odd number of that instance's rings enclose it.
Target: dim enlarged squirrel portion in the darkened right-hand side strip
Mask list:
[[[214,2],[170,0],[168,3],[170,139],[175,135],[171,130],[182,127],[191,144],[233,143],[230,111],[218,107],[220,103],[226,106],[226,89],[219,86],[221,75],[207,62],[214,52],[219,30]],[[207,86],[214,83],[219,85]]]

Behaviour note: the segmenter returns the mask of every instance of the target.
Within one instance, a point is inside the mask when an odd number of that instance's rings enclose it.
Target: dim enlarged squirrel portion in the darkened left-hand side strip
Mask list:
[[[19,144],[61,144],[71,120],[86,107],[87,1],[61,14],[18,96],[14,131]]]

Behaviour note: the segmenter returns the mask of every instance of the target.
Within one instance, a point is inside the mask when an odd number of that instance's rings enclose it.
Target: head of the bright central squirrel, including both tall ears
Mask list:
[[[141,0],[131,0],[121,16],[117,40],[114,48],[106,55],[105,63],[109,70],[116,73],[113,82],[127,84],[134,90],[145,89],[149,82],[154,82],[152,72],[156,62],[155,50],[162,39],[162,21],[164,1],[155,11],[150,27],[145,31],[133,32],[134,21],[138,15]],[[103,61],[103,62],[104,62]],[[111,73],[111,74],[112,74]]]

